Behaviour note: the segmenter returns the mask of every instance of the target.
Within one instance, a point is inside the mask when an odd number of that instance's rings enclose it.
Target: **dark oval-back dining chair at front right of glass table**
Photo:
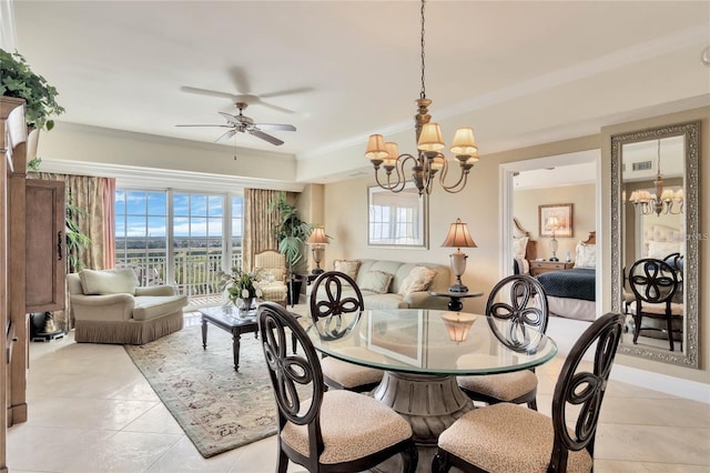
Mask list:
[[[623,314],[607,313],[585,330],[555,385],[551,417],[511,403],[469,411],[439,435],[432,471],[591,471],[601,402],[622,329]],[[582,361],[590,350],[592,364]]]

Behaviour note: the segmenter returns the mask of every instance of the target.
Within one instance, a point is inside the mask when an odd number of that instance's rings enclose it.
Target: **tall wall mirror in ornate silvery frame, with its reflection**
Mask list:
[[[697,366],[698,124],[612,137],[620,352]],[[615,283],[616,285],[617,283]]]

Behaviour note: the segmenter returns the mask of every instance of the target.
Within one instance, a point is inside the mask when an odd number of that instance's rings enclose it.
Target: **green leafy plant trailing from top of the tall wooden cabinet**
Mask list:
[[[50,131],[54,121],[50,118],[64,113],[57,103],[57,89],[36,74],[19,52],[0,49],[0,95],[24,99],[28,127]]]

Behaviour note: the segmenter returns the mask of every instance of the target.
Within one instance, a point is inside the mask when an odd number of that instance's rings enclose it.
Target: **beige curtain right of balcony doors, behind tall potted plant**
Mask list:
[[[242,266],[254,268],[254,254],[278,249],[276,228],[281,223],[276,212],[268,210],[278,191],[244,189],[244,238],[242,240]]]

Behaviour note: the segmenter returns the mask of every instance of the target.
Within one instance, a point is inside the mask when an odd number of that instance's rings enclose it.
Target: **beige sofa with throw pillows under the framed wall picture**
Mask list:
[[[449,266],[363,259],[335,260],[332,269],[355,280],[363,293],[365,309],[447,310],[449,299],[429,295],[429,291],[448,291],[452,284]],[[311,289],[312,285],[306,288],[308,296]]]

